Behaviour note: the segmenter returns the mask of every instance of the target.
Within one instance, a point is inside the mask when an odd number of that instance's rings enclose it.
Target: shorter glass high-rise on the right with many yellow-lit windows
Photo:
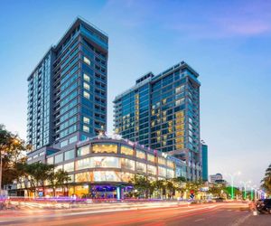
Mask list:
[[[186,161],[187,178],[200,179],[199,74],[182,61],[149,72],[114,100],[115,132]]]

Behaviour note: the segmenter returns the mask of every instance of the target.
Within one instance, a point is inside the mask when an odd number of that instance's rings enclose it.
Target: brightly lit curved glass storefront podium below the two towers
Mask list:
[[[95,137],[45,159],[56,165],[55,171],[63,169],[70,174],[69,184],[55,189],[56,196],[125,198],[133,190],[135,174],[150,180],[186,177],[182,160],[121,138]],[[45,189],[45,195],[52,196],[53,190]]]

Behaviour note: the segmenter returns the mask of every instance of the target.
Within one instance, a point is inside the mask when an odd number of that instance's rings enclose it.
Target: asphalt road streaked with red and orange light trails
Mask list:
[[[240,204],[213,203],[166,208],[122,209],[93,212],[88,210],[40,212],[25,216],[0,217],[0,225],[201,225],[201,226],[270,226],[271,215],[253,216]],[[242,206],[244,207],[244,205]]]

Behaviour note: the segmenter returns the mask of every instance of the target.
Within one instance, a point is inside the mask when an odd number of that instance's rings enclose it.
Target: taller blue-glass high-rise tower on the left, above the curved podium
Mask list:
[[[27,114],[33,152],[69,149],[106,129],[107,49],[107,34],[77,18],[35,67]]]

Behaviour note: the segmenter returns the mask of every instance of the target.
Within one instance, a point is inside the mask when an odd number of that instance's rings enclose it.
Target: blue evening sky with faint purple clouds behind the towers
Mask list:
[[[270,12],[270,1],[249,0],[1,0],[0,123],[26,137],[26,79],[80,15],[109,35],[109,132],[117,94],[187,61],[200,73],[209,173],[259,184],[271,162]]]

